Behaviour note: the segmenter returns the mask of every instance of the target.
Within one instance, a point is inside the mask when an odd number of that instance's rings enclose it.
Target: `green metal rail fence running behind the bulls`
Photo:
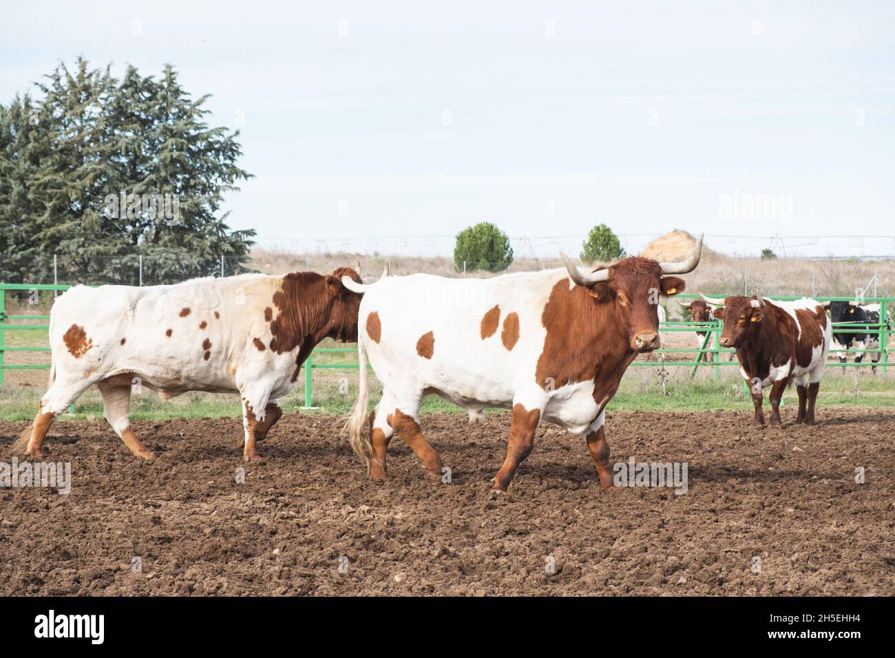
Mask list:
[[[9,291],[25,291],[33,294],[35,291],[63,291],[70,286],[55,285],[36,285],[36,284],[3,284],[0,283],[0,385],[4,382],[4,372],[8,370],[40,370],[47,369],[47,364],[11,364],[5,363],[5,354],[8,352],[49,352],[48,346],[7,346],[4,342],[4,334],[10,331],[28,331],[38,329],[48,329],[46,323],[28,325],[14,324],[15,320],[49,320],[48,315],[7,315],[5,313],[6,293]],[[699,295],[679,295],[683,299],[695,299]],[[720,296],[720,295],[718,295]],[[780,301],[791,301],[801,299],[801,297],[789,296],[773,296],[772,299]],[[850,301],[849,297],[815,297],[819,302],[826,301]],[[875,334],[879,337],[879,347],[874,349],[848,349],[841,350],[848,354],[864,354],[864,355],[880,355],[879,365],[882,368],[882,374],[888,371],[889,351],[891,346],[891,333],[889,327],[890,321],[890,304],[895,304],[893,297],[866,297],[862,303],[879,303],[880,304],[880,321],[873,324],[859,324],[854,322],[836,322],[833,324],[833,333],[853,333],[860,331],[861,333]],[[652,357],[648,360],[638,360],[631,363],[635,367],[688,367],[691,369],[690,376],[694,376],[700,367],[712,368],[712,374],[715,379],[719,377],[720,368],[728,366],[738,366],[736,360],[730,361],[729,355],[733,350],[720,346],[720,332],[722,323],[720,320],[710,320],[708,322],[686,322],[686,321],[669,321],[661,323],[661,332],[669,334],[678,331],[693,333],[695,331],[705,331],[705,338],[700,347],[676,347],[655,350]],[[356,370],[357,363],[314,363],[314,355],[326,353],[354,353],[356,350],[349,347],[325,347],[315,349],[308,357],[304,364],[304,406],[312,406],[313,402],[313,373],[320,370]],[[696,355],[694,361],[675,360],[674,357],[666,360],[666,355]],[[704,360],[703,360],[704,359]],[[831,367],[860,367],[869,365],[870,363],[828,363]]]

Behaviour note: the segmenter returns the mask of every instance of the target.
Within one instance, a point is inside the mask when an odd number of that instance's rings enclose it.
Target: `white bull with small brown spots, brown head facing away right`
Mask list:
[[[58,414],[96,384],[103,415],[134,455],[151,459],[131,429],[133,384],[167,399],[187,391],[239,393],[243,456],[258,457],[282,411],[278,398],[295,385],[323,338],[357,339],[361,295],[331,275],[294,272],[199,278],[174,286],[75,286],[50,313],[50,387],[16,449],[41,457]]]

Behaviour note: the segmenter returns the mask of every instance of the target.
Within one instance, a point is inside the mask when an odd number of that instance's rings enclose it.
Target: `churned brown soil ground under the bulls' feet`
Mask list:
[[[895,414],[818,415],[609,414],[611,461],[688,462],[679,496],[601,491],[584,441],[542,426],[497,499],[507,414],[423,418],[449,484],[400,439],[371,482],[330,416],[284,417],[243,484],[236,419],[135,423],[151,464],[105,423],[56,423],[72,492],[0,490],[0,594],[895,594]],[[0,459],[23,425],[0,423]]]

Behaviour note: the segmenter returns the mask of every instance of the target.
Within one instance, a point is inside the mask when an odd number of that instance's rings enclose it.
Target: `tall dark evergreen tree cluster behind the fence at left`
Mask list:
[[[116,80],[79,59],[38,83],[41,100],[0,106],[0,279],[167,283],[247,260],[254,231],[226,226],[238,132],[209,128],[202,106],[166,66]],[[6,171],[13,175],[5,182]],[[10,265],[9,263],[12,263]]]

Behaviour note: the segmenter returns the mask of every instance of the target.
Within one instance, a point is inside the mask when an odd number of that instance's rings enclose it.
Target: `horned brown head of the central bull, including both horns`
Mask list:
[[[702,252],[703,236],[700,235],[686,261],[666,263],[632,256],[588,273],[575,267],[566,254],[560,255],[566,262],[569,278],[576,285],[586,287],[594,303],[613,304],[631,350],[652,352],[659,346],[661,295],[684,292],[682,278],[666,275],[692,272]]]

